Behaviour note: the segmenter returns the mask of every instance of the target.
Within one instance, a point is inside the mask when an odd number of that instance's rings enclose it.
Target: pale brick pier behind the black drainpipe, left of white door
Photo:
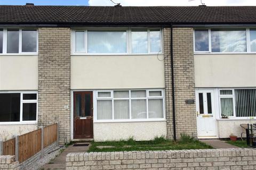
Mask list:
[[[172,81],[171,81],[171,29],[164,28],[165,97],[167,137],[173,138]],[[177,138],[181,133],[197,137],[196,106],[186,104],[195,100],[193,28],[173,28],[173,64],[175,91],[175,121]]]

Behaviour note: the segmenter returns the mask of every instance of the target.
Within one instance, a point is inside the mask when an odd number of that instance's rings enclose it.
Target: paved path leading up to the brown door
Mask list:
[[[77,144],[77,143],[76,143]],[[41,167],[41,170],[47,169],[66,169],[66,156],[69,153],[77,153],[77,152],[86,152],[89,149],[89,146],[77,146],[74,147],[74,144],[68,146],[65,150],[61,152],[61,154],[55,157],[50,163],[45,164]]]

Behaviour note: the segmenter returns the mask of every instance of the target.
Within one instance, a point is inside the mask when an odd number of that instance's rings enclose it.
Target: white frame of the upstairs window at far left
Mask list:
[[[38,29],[37,28],[0,28],[3,30],[3,53],[1,55],[38,55]],[[19,53],[7,53],[7,30],[19,30]],[[22,30],[36,30],[36,52],[22,52]]]

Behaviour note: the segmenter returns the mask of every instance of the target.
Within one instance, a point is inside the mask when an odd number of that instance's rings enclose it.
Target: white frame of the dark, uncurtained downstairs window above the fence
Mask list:
[[[38,92],[37,91],[0,91],[0,94],[20,94],[20,121],[18,122],[0,122],[0,125],[13,124],[37,124],[38,121]],[[23,100],[23,94],[36,94],[36,100]],[[23,121],[23,103],[36,103],[36,120]]]

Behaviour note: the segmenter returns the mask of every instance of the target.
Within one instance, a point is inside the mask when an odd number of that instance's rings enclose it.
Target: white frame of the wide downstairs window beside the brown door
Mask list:
[[[141,98],[132,98],[131,97],[131,91],[146,91],[146,97]],[[98,92],[109,92],[111,91],[111,98],[103,98],[98,97]],[[129,97],[127,98],[114,98],[114,91],[129,91]],[[149,97],[149,91],[161,91],[162,96],[150,96]],[[94,107],[94,117],[93,122],[94,123],[107,123],[107,122],[155,122],[155,121],[166,121],[165,118],[165,94],[164,89],[116,89],[116,90],[95,90],[96,92],[96,98],[93,100],[93,103],[95,104]],[[147,105],[147,118],[132,118],[132,112],[131,112],[131,101],[132,100],[138,100],[138,99],[145,99],[146,105]],[[148,100],[150,99],[162,99],[163,100],[163,118],[149,118],[148,117]],[[97,118],[97,101],[98,100],[112,100],[112,119],[111,120],[98,120]],[[129,119],[115,119],[114,115],[114,100],[129,100]]]

